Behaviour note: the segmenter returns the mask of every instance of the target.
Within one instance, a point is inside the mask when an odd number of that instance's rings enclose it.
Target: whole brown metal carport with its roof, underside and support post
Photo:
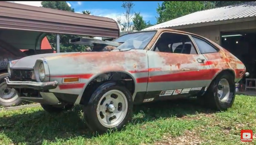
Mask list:
[[[57,42],[58,34],[116,38],[119,27],[106,17],[0,2],[0,40],[19,49],[40,49],[47,33],[56,33]]]

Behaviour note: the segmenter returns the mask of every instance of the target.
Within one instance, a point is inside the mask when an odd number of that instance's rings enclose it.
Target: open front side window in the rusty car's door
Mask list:
[[[160,36],[156,42],[154,51],[179,54],[197,54],[188,35],[170,32],[165,32]]]

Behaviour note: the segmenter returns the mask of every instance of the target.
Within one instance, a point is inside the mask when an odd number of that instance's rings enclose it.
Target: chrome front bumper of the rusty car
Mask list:
[[[57,88],[58,82],[32,82],[32,81],[10,81],[8,77],[5,78],[5,82],[10,88],[31,88],[35,90],[49,90]]]

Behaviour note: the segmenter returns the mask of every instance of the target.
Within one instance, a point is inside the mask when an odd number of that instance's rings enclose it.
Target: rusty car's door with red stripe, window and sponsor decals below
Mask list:
[[[163,32],[148,51],[149,78],[146,98],[191,96],[208,84],[210,67],[198,53],[191,36]]]

